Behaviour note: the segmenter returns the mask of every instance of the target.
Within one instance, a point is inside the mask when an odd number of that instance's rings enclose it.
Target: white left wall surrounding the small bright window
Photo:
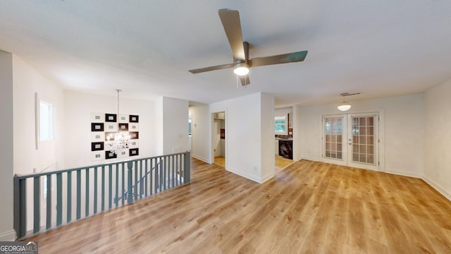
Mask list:
[[[18,56],[13,56],[14,78],[14,171],[32,174],[33,169],[56,170],[63,162],[63,88],[38,73]],[[35,92],[39,99],[55,106],[55,139],[35,146]],[[24,159],[26,157],[26,159]]]

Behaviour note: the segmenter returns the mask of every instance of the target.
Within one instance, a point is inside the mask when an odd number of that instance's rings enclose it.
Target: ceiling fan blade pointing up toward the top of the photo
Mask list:
[[[218,11],[221,23],[223,23],[228,43],[235,59],[245,60],[245,47],[242,42],[240,13],[235,10],[221,9]]]

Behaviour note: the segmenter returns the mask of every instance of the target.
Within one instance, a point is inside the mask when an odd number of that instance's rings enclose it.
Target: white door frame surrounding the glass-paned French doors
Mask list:
[[[320,114],[319,115],[319,159],[321,162],[331,163],[331,164],[339,164],[337,163],[339,159],[326,159],[323,157],[323,117],[324,116],[340,116],[345,115],[345,119],[347,121],[348,115],[357,115],[357,114],[378,114],[379,116],[379,126],[378,126],[378,167],[377,171],[385,171],[385,114],[384,109],[368,109],[364,111],[346,111],[346,112],[329,112],[328,114]],[[349,135],[349,133],[347,133]],[[347,141],[347,140],[346,140]],[[347,149],[347,148],[346,148]],[[335,161],[335,162],[334,162]],[[345,162],[347,164],[347,162]],[[351,167],[351,166],[350,166]],[[364,167],[361,167],[364,169]],[[373,170],[373,169],[369,169]]]

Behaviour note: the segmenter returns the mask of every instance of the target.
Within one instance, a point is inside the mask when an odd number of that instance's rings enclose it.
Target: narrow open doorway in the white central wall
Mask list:
[[[213,116],[213,163],[226,168],[226,111]]]

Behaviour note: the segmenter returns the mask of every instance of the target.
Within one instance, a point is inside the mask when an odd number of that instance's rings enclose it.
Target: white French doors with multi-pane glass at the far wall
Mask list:
[[[323,116],[323,162],[378,170],[377,113]]]

